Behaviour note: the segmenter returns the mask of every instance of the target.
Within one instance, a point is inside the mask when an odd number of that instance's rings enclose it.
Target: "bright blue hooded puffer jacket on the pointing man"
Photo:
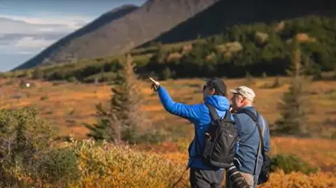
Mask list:
[[[200,148],[204,147],[204,132],[207,131],[211,123],[211,115],[209,109],[204,103],[186,105],[183,103],[176,103],[173,101],[172,97],[169,96],[167,90],[160,86],[158,89],[158,94],[160,101],[164,108],[173,115],[178,115],[180,117],[186,118],[195,125],[195,131],[197,131],[197,136],[199,139]],[[230,101],[225,96],[211,95],[204,99],[205,103],[209,103],[216,107],[216,111],[220,117],[224,117],[226,110],[230,108]],[[233,116],[231,116],[233,120]],[[197,151],[200,151],[200,148]],[[195,157],[195,138],[191,144],[191,149],[189,152],[188,166],[202,169],[214,169],[210,168],[202,162],[202,159]],[[191,164],[191,165],[190,165]]]

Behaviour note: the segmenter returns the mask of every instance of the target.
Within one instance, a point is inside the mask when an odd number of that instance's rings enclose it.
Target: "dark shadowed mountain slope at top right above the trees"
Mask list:
[[[307,15],[335,15],[336,1],[267,1],[250,0],[244,4],[237,1],[218,1],[187,22],[176,25],[153,41],[140,45],[146,47],[153,42],[177,43],[197,37],[221,34],[225,27],[255,22],[276,22]]]

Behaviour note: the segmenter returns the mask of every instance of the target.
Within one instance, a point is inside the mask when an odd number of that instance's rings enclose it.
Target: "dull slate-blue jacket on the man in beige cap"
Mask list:
[[[252,110],[255,113],[255,108],[252,106],[245,107],[247,110]],[[260,113],[259,113],[260,114]],[[253,174],[254,166],[255,166],[255,159],[258,150],[258,143],[260,140],[259,132],[257,127],[255,126],[255,122],[246,115],[246,113],[235,113],[235,122],[236,128],[238,131],[239,141],[239,148],[236,151],[236,158],[239,159],[239,163],[241,166],[237,166],[240,171],[244,173]],[[262,115],[258,120],[260,130],[265,129],[263,133],[265,151],[269,152],[269,127],[268,123]],[[260,170],[262,167],[262,154],[260,148],[260,154],[258,155],[258,164],[255,174],[259,175]]]

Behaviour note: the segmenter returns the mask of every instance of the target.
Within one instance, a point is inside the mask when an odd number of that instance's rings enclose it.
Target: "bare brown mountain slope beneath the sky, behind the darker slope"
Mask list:
[[[14,70],[127,52],[185,22],[217,1],[149,0],[139,8],[119,8],[85,26],[90,29],[79,29],[62,38]],[[109,19],[104,18],[106,16]]]

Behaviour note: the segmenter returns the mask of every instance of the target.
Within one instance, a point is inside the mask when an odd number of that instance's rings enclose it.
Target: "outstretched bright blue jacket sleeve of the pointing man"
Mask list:
[[[169,113],[184,117],[188,120],[197,120],[198,117],[200,117],[202,104],[187,105],[184,103],[176,103],[172,97],[169,96],[165,87],[162,86],[159,87],[158,94],[163,107]]]

